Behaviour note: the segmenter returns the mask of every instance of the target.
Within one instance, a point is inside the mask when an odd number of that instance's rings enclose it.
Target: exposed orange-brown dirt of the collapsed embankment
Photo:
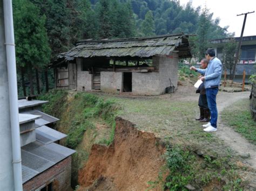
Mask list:
[[[78,175],[79,190],[145,190],[157,180],[165,148],[153,133],[142,132],[122,118],[110,146],[94,144]]]

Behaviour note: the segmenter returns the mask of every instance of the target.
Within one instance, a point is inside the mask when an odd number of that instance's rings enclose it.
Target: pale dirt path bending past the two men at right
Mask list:
[[[234,102],[241,100],[241,98],[248,98],[249,91],[239,93],[225,93],[220,92],[217,97],[217,107],[219,116],[224,108],[228,107]],[[219,117],[220,119],[220,117]],[[250,157],[246,159],[254,169],[256,169],[256,146],[249,143],[239,133],[235,132],[232,128],[224,125],[221,120],[218,121],[218,131],[216,132],[218,138],[224,140],[225,144],[230,146],[235,152],[241,156],[250,154]]]

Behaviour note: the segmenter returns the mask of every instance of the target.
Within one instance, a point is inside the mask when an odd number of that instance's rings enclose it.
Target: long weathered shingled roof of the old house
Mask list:
[[[186,55],[191,55],[187,36],[183,33],[151,38],[84,40],[79,41],[70,51],[59,54],[58,58],[66,60],[95,56],[149,58],[153,55],[170,55],[176,47],[180,46],[187,47]]]

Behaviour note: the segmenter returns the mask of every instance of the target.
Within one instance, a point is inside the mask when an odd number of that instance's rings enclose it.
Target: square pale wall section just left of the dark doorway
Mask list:
[[[122,91],[122,72],[100,72],[100,90],[107,93],[117,93],[117,89]]]

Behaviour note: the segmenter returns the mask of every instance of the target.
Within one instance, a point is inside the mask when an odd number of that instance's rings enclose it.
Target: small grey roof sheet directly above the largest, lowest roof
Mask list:
[[[45,125],[36,129],[37,141],[44,144],[50,144],[50,143],[56,142],[56,140],[60,140],[65,137],[66,135],[64,133],[58,132]]]

